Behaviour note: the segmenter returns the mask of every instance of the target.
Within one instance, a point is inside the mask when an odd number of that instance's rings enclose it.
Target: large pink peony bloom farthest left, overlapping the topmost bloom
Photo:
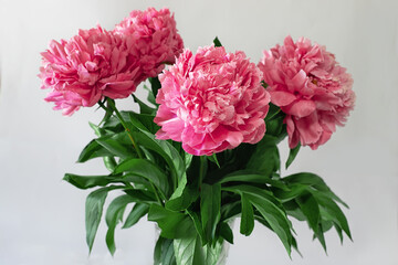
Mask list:
[[[64,115],[91,107],[104,96],[128,97],[143,80],[124,40],[101,26],[80,30],[69,41],[52,41],[42,56],[39,77],[42,88],[52,89],[45,100],[55,103],[54,109],[63,109]]]

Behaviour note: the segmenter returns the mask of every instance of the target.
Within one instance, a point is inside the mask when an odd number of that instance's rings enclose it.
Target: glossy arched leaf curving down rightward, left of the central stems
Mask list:
[[[121,162],[115,168],[115,173],[128,172],[149,180],[161,192],[164,199],[169,194],[167,176],[160,169],[146,159],[133,158]]]

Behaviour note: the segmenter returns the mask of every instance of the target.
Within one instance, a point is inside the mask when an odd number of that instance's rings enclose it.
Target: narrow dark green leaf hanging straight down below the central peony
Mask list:
[[[203,183],[200,191],[200,216],[205,232],[205,244],[213,242],[217,224],[221,219],[221,184]]]

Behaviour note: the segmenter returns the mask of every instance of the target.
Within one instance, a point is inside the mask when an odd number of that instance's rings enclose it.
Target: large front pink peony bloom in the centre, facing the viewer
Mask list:
[[[187,152],[209,156],[264,136],[270,95],[243,52],[207,46],[192,55],[185,50],[159,80],[158,139],[181,141]]]

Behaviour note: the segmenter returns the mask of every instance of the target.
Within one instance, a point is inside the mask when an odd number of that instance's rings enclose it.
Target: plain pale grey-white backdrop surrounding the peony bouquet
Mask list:
[[[62,181],[64,172],[105,173],[100,160],[76,165],[94,137],[87,121],[94,108],[72,117],[43,100],[36,77],[40,52],[51,39],[69,39],[97,23],[113,29],[134,9],[168,7],[185,45],[196,50],[219,35],[229,51],[243,50],[258,62],[262,50],[285,35],[307,36],[335,53],[354,77],[357,95],[347,125],[317,151],[304,148],[289,172],[321,174],[349,205],[354,243],[342,246],[326,234],[328,255],[312,241],[306,224],[294,222],[304,255],[287,257],[277,237],[255,226],[239,234],[228,264],[398,264],[398,1],[259,0],[0,0],[0,264],[151,264],[154,224],[116,229],[114,258],[102,223],[88,257],[84,232],[87,191]],[[133,108],[128,99],[124,108]],[[286,142],[281,145],[286,156]]]

